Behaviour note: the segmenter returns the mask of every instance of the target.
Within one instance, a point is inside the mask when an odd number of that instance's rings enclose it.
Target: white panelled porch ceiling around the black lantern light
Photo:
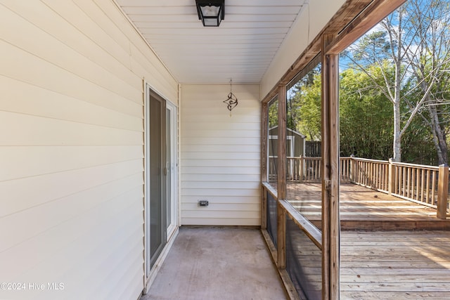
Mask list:
[[[195,0],[116,0],[182,84],[259,84],[308,0],[225,0],[203,27]]]

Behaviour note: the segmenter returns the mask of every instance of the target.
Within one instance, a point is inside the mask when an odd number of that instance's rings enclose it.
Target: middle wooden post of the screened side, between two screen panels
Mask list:
[[[278,86],[278,268],[285,268],[285,211],[279,200],[286,199],[286,86]]]

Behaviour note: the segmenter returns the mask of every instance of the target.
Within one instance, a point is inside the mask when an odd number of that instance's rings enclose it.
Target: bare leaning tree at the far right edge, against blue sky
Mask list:
[[[425,105],[425,109],[419,109],[418,113],[430,129],[439,164],[446,164],[450,89],[450,1],[409,1],[406,10],[411,17],[404,27],[409,32],[416,32],[412,37],[413,45],[416,46],[404,48],[404,53]],[[409,101],[406,103],[413,109],[413,104]]]

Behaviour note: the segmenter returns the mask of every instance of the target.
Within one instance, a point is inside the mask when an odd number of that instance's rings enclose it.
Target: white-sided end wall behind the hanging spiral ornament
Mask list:
[[[259,86],[181,86],[181,224],[260,225]],[[208,207],[198,207],[208,200]]]

